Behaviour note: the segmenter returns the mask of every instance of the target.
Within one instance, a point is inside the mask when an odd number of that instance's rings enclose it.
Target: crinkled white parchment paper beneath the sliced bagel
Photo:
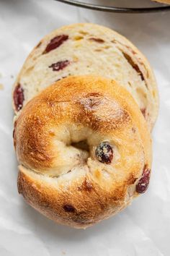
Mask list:
[[[119,215],[85,231],[53,223],[18,195],[12,145],[14,78],[27,54],[45,34],[72,22],[97,22],[132,40],[151,62],[160,93],[148,192]],[[108,14],[52,0],[1,0],[0,84],[0,255],[169,256],[170,12]]]

